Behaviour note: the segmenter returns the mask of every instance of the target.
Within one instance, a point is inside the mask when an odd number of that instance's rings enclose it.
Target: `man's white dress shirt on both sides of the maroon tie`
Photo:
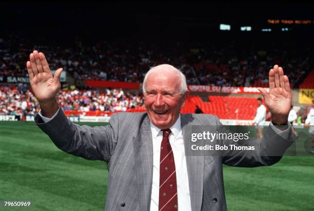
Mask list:
[[[159,168],[160,168],[160,147],[163,139],[163,132],[150,122],[150,129],[153,141],[153,178],[151,188],[150,211],[158,211],[159,203]],[[190,211],[190,189],[187,174],[184,142],[182,136],[181,119],[170,127],[171,133],[169,135],[169,142],[173,151],[176,187],[178,191],[178,210]]]

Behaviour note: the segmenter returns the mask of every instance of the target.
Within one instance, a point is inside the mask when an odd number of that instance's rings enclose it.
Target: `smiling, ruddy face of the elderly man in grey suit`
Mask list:
[[[150,121],[160,129],[170,128],[185,106],[188,91],[181,93],[181,78],[176,72],[154,71],[146,81],[145,107]]]

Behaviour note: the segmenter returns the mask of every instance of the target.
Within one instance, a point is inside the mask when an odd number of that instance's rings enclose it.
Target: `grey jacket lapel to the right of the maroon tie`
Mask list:
[[[191,150],[191,126],[201,125],[192,114],[181,114],[181,126],[184,140],[184,149],[186,155],[186,165],[188,171],[191,208],[192,211],[199,211],[202,207],[203,200],[203,183],[204,183],[204,156],[193,155]]]

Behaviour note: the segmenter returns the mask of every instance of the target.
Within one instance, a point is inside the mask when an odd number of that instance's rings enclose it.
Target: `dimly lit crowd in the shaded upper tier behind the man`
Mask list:
[[[38,40],[33,43],[17,35],[0,40],[0,75],[27,76],[25,62],[33,49],[45,53],[50,68],[64,68],[75,80],[142,82],[147,70],[169,63],[180,68],[188,84],[212,86],[253,86],[268,83],[268,71],[274,64],[283,66],[292,85],[313,69],[312,55],[300,49],[296,55],[281,49],[241,48],[230,42],[147,42],[99,41],[72,44]],[[292,49],[298,49],[293,47]],[[294,50],[296,51],[296,50]]]

